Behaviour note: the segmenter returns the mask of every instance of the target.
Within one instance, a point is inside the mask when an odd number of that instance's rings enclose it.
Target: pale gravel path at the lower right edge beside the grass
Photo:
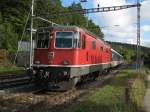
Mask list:
[[[144,106],[146,112],[150,112],[150,74],[148,75],[148,80],[147,80],[147,89],[146,89],[146,95],[144,98]]]

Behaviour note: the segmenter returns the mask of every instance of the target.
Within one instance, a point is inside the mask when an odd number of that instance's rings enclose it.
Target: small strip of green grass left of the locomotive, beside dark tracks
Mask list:
[[[14,74],[23,74],[24,69],[22,67],[0,67],[0,73],[14,73]]]

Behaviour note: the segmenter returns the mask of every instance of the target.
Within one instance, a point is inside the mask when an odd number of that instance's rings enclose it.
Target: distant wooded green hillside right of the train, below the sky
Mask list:
[[[136,45],[109,42],[113,49],[119,52],[128,63],[136,62]],[[140,47],[141,64],[150,68],[150,48]]]

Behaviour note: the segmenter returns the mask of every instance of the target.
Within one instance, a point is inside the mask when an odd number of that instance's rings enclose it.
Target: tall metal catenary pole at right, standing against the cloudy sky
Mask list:
[[[137,0],[137,57],[136,57],[136,70],[140,73],[141,69],[141,47],[140,47],[140,2]]]

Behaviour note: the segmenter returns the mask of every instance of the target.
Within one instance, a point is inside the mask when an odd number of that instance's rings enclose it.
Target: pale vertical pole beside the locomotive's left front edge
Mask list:
[[[30,69],[32,68],[33,64],[33,35],[32,35],[32,30],[33,30],[33,13],[34,13],[34,0],[32,0],[31,4],[31,24],[30,24]]]

